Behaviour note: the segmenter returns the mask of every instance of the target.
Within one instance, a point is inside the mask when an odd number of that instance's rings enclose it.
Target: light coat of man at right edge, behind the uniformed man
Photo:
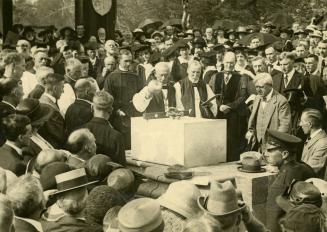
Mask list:
[[[327,134],[325,131],[320,131],[304,145],[301,160],[310,165],[319,177],[324,177],[327,160]]]

